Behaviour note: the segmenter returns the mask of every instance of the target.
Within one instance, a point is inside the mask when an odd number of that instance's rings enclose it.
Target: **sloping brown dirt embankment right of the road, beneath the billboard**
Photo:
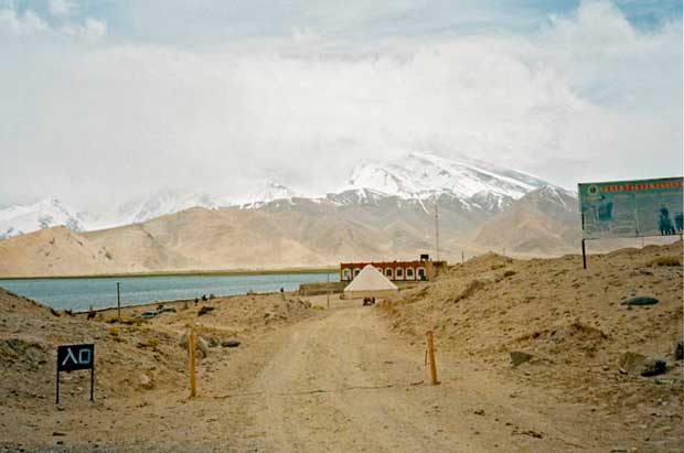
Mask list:
[[[658,303],[623,303],[634,296]],[[420,337],[432,328],[441,350],[590,407],[607,420],[607,439],[639,451],[676,451],[684,442],[684,367],[675,358],[683,303],[680,241],[589,257],[586,270],[578,256],[490,254],[400,293],[383,310],[402,334]],[[530,362],[513,366],[511,352]],[[646,365],[630,357],[662,359],[664,373],[641,376]]]

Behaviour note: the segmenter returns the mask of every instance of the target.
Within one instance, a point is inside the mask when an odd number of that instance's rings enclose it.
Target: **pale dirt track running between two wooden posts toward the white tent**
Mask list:
[[[439,352],[441,384],[430,386],[424,345],[389,334],[374,309],[341,304],[292,328],[259,373],[247,392],[256,396],[247,410],[253,429],[239,450],[591,449],[581,429],[573,433],[573,419],[583,417],[576,408],[547,406],[547,397],[493,381]]]

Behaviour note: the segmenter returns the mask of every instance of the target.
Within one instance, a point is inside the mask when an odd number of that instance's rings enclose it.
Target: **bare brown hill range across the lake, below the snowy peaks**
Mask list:
[[[191,208],[89,233],[53,227],[0,240],[0,276],[274,269],[415,259],[435,250],[436,203],[442,259],[460,261],[461,252],[470,257],[491,249],[560,255],[577,249],[579,236],[576,203],[558,191],[543,187],[511,205],[489,209],[448,196],[420,201],[350,191],[252,208]]]

